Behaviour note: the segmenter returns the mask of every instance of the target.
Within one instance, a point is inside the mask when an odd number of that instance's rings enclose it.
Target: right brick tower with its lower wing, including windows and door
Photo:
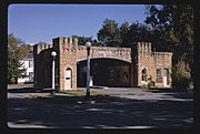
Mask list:
[[[171,86],[171,52],[152,52],[151,42],[137,42],[138,86],[151,79],[156,86]]]

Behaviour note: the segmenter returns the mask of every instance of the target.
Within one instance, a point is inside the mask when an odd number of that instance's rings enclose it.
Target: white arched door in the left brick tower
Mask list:
[[[64,71],[64,90],[71,90],[72,89],[72,86],[71,86],[71,84],[72,84],[71,74],[72,74],[71,69],[70,68],[66,69],[66,71]]]

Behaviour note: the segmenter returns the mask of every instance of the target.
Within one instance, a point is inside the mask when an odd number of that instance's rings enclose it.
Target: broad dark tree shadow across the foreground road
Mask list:
[[[9,99],[8,121],[53,128],[190,128],[193,101],[134,100],[110,96]],[[91,102],[90,101],[90,102]],[[80,103],[82,102],[82,103]]]

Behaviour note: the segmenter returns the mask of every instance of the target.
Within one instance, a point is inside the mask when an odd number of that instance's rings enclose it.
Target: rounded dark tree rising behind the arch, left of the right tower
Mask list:
[[[153,41],[153,33],[146,23],[134,22],[119,25],[114,20],[106,19],[98,32],[98,40],[107,47],[131,47],[133,42]]]

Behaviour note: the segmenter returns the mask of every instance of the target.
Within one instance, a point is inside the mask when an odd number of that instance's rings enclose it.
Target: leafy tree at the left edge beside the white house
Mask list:
[[[18,78],[24,76],[22,63],[23,59],[30,51],[30,47],[26,45],[20,39],[13,34],[8,35],[8,83],[17,83]],[[20,69],[21,68],[21,69]]]

